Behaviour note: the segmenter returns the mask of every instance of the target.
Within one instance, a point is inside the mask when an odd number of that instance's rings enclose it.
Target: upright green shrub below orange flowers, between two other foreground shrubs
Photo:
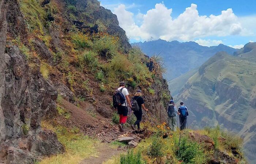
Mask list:
[[[152,137],[152,144],[148,147],[147,155],[151,157],[162,157],[164,155],[164,143],[161,137]]]

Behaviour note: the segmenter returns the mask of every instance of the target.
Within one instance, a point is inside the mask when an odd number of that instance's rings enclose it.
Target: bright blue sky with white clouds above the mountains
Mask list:
[[[130,42],[160,38],[236,48],[256,42],[254,0],[101,0],[101,5],[117,15]]]

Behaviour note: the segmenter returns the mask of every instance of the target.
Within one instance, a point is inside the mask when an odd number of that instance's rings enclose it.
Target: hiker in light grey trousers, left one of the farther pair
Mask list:
[[[176,131],[178,110],[172,99],[170,100],[170,104],[168,105],[167,113],[168,113],[169,128],[172,131]]]

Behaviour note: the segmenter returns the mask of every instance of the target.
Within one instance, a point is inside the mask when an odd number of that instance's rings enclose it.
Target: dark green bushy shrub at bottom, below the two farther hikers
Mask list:
[[[207,157],[203,152],[203,148],[200,145],[190,140],[187,136],[181,137],[180,144],[176,140],[176,156],[178,160],[182,160],[184,163],[206,163]]]

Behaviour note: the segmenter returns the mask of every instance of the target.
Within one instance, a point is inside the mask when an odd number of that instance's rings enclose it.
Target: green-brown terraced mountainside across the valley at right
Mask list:
[[[248,158],[256,155],[256,63],[247,56],[256,43],[246,44],[235,57],[219,52],[205,62],[175,98],[182,99],[191,111],[189,124],[194,128],[221,125],[244,138]],[[248,47],[249,46],[249,47]],[[244,52],[244,54],[242,53]],[[246,58],[248,57],[248,58]]]

